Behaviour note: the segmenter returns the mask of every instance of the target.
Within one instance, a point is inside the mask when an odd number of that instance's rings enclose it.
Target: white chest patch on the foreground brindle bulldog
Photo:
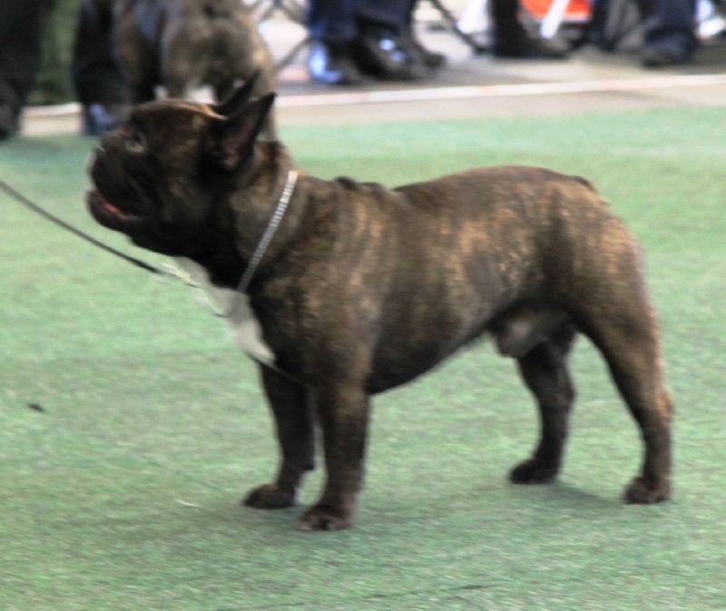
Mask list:
[[[250,298],[240,291],[221,289],[214,286],[207,271],[199,263],[183,257],[175,257],[176,264],[186,271],[191,280],[207,293],[210,300],[219,308],[223,316],[227,316],[234,332],[234,340],[242,350],[247,352],[254,360],[264,365],[274,367],[275,354],[270,346],[262,339],[260,321],[255,318],[250,307]]]

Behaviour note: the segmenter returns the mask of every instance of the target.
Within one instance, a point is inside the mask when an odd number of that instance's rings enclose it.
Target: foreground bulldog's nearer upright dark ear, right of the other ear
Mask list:
[[[275,94],[263,95],[217,124],[212,154],[224,170],[233,172],[250,159],[252,147],[274,101]]]

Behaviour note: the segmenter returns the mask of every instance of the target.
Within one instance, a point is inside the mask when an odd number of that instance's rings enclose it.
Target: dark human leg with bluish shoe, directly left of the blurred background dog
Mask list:
[[[128,109],[128,94],[111,43],[112,0],[83,0],[75,31],[71,73],[83,104],[83,133],[112,130]]]

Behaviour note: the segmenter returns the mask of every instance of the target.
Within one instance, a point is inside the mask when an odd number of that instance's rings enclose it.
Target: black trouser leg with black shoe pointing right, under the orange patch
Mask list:
[[[667,0],[666,0],[667,1]],[[491,0],[493,53],[497,57],[562,59],[569,47],[556,39],[529,34],[519,18],[519,0]]]

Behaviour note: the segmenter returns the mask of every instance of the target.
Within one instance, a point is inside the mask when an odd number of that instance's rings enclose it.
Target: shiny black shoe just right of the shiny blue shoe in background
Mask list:
[[[364,27],[353,59],[360,72],[381,81],[418,81],[428,72],[417,53],[386,28]]]

